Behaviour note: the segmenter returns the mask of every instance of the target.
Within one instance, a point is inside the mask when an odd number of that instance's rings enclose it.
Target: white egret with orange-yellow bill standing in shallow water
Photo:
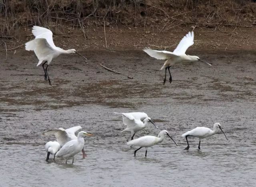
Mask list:
[[[77,139],[71,140],[64,144],[62,148],[56,153],[56,157],[66,158],[66,163],[69,158],[73,158],[72,163],[74,163],[74,156],[78,154],[84,148],[84,136],[93,136],[84,131],[78,132]]]

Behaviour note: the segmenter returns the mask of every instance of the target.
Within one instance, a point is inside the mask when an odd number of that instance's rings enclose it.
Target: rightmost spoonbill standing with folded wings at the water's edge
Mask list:
[[[220,130],[223,132],[223,130],[221,128],[221,125],[219,123],[215,123],[213,125],[213,130],[211,130],[210,128],[206,128],[206,127],[197,127],[197,128],[192,129],[192,130],[189,130],[188,132],[185,132],[184,134],[182,134],[182,137],[186,137],[187,144],[188,144],[188,136],[199,138],[198,149],[200,149],[201,139],[207,138],[209,136],[212,136],[212,135],[216,134],[217,131],[218,131],[218,128],[220,128]],[[223,132],[223,134],[226,137],[226,134],[224,132]],[[227,137],[226,137],[226,139],[228,140]],[[185,148],[185,150],[188,150],[188,149],[189,149],[189,144]]]

